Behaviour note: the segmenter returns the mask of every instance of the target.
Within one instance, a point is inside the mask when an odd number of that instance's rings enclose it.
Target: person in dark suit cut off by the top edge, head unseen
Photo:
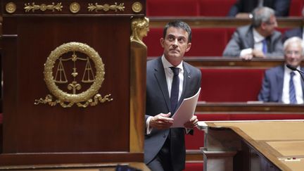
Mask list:
[[[267,6],[274,9],[277,17],[289,15],[290,0],[237,0],[230,8],[229,17],[251,18],[251,12],[254,8]]]

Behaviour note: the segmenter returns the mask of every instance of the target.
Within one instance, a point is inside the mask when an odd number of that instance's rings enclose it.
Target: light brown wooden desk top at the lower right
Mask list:
[[[282,170],[304,168],[304,120],[205,123],[210,129],[232,129]]]

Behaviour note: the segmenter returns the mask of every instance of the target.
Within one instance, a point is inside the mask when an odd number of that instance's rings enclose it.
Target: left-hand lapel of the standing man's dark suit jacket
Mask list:
[[[163,98],[165,99],[167,109],[170,111],[170,106],[171,106],[170,97],[169,97],[169,92],[167,89],[167,80],[165,77],[165,70],[163,68],[163,63],[161,61],[161,58],[158,58],[158,61],[155,65],[154,70],[155,70],[154,75],[158,82],[158,87],[160,88],[160,91],[163,94]]]

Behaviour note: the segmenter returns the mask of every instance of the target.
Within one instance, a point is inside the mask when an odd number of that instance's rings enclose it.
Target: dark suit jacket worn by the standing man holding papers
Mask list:
[[[184,87],[179,100],[179,105],[183,99],[194,96],[201,87],[201,71],[188,63],[184,65]],[[146,115],[155,116],[159,113],[170,112],[170,97],[167,90],[167,81],[161,58],[147,62],[146,70]],[[155,158],[160,148],[162,148],[168,137],[169,129],[153,129],[151,134],[145,134],[144,162],[150,163]],[[183,170],[185,162],[184,128],[172,128],[171,156],[175,170]]]

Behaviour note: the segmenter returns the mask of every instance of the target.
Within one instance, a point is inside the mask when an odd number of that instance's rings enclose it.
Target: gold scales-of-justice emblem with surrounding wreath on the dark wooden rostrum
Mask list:
[[[91,63],[94,63],[94,67]],[[53,68],[56,68],[55,75]],[[60,104],[63,108],[77,104],[78,107],[87,108],[99,102],[113,101],[110,94],[103,97],[99,94],[104,75],[103,61],[90,46],[80,42],[62,44],[51,51],[44,64],[44,81],[55,97],[47,94],[44,99],[36,99],[34,104]]]

